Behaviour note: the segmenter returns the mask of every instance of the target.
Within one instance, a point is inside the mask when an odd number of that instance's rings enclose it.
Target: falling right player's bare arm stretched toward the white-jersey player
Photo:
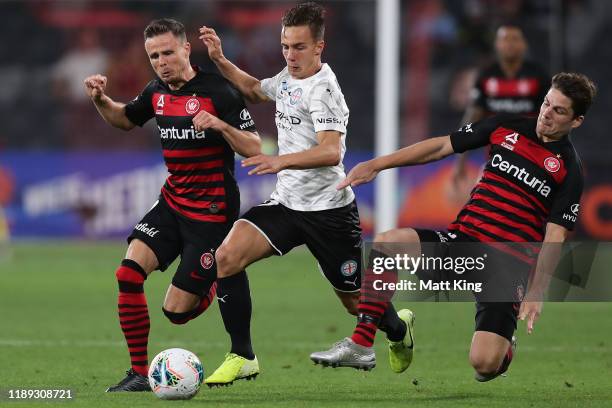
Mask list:
[[[430,163],[442,160],[453,153],[450,136],[433,137],[388,155],[359,163],[336,188],[341,190],[348,186],[355,187],[360,184],[369,183],[382,170]]]

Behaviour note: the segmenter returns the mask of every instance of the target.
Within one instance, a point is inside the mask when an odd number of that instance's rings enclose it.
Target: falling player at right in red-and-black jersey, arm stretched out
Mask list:
[[[367,183],[384,169],[429,163],[488,145],[484,174],[448,232],[395,229],[377,235],[374,249],[377,243],[418,246],[422,242],[564,242],[576,223],[583,185],[580,160],[569,133],[584,121],[595,93],[595,85],[586,76],[557,74],[537,119],[499,115],[467,124],[448,136],[431,138],[360,163],[338,188]],[[493,379],[508,369],[517,318],[526,318],[527,331],[533,330],[542,309],[545,275],[550,272],[550,265],[556,264],[555,249],[551,247],[555,245],[543,246],[537,257],[526,301],[518,303],[522,300],[520,293],[515,302],[481,302],[476,297],[470,362],[477,380]],[[528,272],[531,268],[528,262],[523,265]],[[372,346],[380,316],[389,303],[388,298],[376,296],[368,275],[371,274],[366,271],[359,322],[353,336],[341,347],[314,353],[313,360],[354,367],[358,363],[354,361],[355,350],[363,354],[364,347]],[[411,323],[412,319],[410,316]],[[402,344],[394,344],[390,349],[391,365],[397,372],[408,368],[412,361],[412,324],[408,327]]]

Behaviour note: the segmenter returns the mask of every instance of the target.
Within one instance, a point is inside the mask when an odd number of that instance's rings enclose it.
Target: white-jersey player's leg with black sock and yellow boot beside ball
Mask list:
[[[266,237],[244,220],[234,224],[217,249],[217,299],[232,348],[223,364],[206,379],[209,387],[230,385],[259,374],[259,363],[251,346],[251,294],[244,268],[273,253]]]

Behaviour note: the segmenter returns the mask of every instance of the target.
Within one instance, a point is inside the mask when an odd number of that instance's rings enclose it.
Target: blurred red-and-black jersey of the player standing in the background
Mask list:
[[[526,61],[513,78],[507,78],[499,63],[483,70],[474,85],[474,104],[487,116],[516,113],[537,116],[550,86],[550,76]]]

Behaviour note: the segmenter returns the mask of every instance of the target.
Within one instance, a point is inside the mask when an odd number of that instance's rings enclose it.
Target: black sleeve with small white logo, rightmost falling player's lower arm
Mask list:
[[[583,184],[582,171],[575,163],[572,168],[568,169],[567,176],[557,191],[548,222],[561,225],[570,231],[574,229],[578,219]]]

